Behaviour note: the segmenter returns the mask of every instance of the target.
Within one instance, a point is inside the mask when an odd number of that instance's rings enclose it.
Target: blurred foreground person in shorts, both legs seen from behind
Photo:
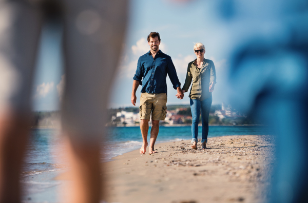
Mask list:
[[[0,202],[21,201],[19,176],[29,137],[33,67],[42,25],[50,18],[61,21],[65,54],[62,131],[72,181],[62,201],[102,198],[99,145],[127,4],[0,0]]]

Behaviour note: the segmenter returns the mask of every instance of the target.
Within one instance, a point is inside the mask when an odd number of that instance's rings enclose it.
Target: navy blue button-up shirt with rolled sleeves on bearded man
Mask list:
[[[167,93],[167,73],[173,87],[175,89],[181,87],[171,57],[159,50],[155,58],[153,58],[149,51],[138,59],[137,70],[133,79],[138,80],[139,84],[142,85],[141,92]]]

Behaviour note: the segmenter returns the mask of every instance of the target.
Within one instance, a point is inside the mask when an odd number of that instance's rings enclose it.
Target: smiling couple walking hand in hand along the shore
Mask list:
[[[151,115],[152,127],[150,132],[149,153],[156,153],[154,150],[155,141],[159,132],[159,121],[165,120],[167,114],[167,74],[174,89],[177,90],[177,98],[182,99],[188,91],[190,84],[190,109],[192,115],[191,143],[192,149],[198,149],[198,124],[201,111],[202,118],[202,149],[206,149],[208,135],[208,115],[212,103],[212,95],[216,84],[216,71],[212,60],[205,59],[205,47],[202,43],[196,43],[194,52],[197,56],[187,67],[185,84],[181,84],[171,57],[159,50],[161,42],[158,32],[151,32],[148,37],[150,51],[140,56],[136,74],[133,77],[131,103],[136,106],[136,91],[142,85],[140,97],[140,129],[143,144],[141,154],[145,154],[148,146],[147,134],[149,119]],[[142,79],[143,78],[143,79]]]

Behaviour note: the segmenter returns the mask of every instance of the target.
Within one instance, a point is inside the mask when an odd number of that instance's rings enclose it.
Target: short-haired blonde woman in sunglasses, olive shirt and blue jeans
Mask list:
[[[204,58],[205,47],[202,43],[196,43],[194,51],[197,56],[195,60],[188,64],[185,84],[182,92],[187,92],[191,84],[189,97],[190,97],[190,110],[192,115],[191,143],[192,149],[198,149],[198,124],[200,117],[202,117],[202,149],[206,148],[207,134],[208,134],[208,115],[212,103],[211,93],[216,84],[216,71],[213,61]]]

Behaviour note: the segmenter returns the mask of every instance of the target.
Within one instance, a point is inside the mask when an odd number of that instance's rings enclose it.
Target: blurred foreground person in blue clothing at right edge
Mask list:
[[[271,202],[308,202],[308,2],[219,1],[237,40],[230,52],[230,104],[275,127]]]

